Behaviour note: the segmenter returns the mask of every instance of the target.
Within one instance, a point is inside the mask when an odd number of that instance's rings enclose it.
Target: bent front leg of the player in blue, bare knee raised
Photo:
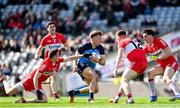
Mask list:
[[[99,91],[98,88],[98,75],[96,72],[90,68],[87,67],[84,69],[82,76],[88,81],[89,83],[89,101],[94,100],[94,93],[97,93]]]

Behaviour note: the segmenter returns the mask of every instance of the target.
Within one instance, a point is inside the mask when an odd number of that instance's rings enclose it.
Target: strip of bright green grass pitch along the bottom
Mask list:
[[[149,103],[148,97],[135,97],[135,104],[125,104],[125,98],[119,103],[109,103],[107,97],[96,97],[96,103],[87,103],[87,97],[75,97],[75,103],[69,103],[68,97],[62,100],[48,98],[48,103],[14,103],[18,97],[0,97],[0,108],[180,108],[180,100],[169,102],[168,97],[159,97],[157,102]]]

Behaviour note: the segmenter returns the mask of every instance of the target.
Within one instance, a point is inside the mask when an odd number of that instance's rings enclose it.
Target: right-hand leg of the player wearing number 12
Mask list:
[[[122,79],[121,79],[121,85],[123,87],[124,93],[128,97],[127,103],[134,103],[132,93],[131,93],[131,87],[129,85],[129,81],[137,76],[138,76],[138,74],[130,68],[126,68],[125,71],[123,72]]]

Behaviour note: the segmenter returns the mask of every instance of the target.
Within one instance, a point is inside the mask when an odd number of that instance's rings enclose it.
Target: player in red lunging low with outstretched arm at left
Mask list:
[[[3,81],[5,91],[8,95],[17,94],[20,91],[26,90],[37,95],[36,99],[25,100],[24,98],[16,101],[21,103],[46,103],[47,96],[42,88],[42,83],[49,77],[55,77],[59,71],[60,63],[76,60],[79,57],[87,55],[75,55],[67,58],[59,57],[59,51],[52,51],[49,56],[42,61],[40,66],[27,75],[23,80],[17,83],[14,87],[9,88],[6,80]],[[52,85],[51,85],[52,86]],[[52,87],[52,91],[56,92],[56,86]]]

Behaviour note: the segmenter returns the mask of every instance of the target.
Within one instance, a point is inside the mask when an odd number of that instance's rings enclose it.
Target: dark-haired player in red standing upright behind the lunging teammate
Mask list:
[[[65,37],[56,32],[56,25],[54,21],[50,21],[47,23],[47,31],[49,32],[42,40],[41,43],[36,51],[36,54],[34,56],[35,60],[38,60],[43,48],[45,48],[45,57],[48,57],[48,53],[50,51],[53,51],[55,49],[60,49],[62,47],[66,47],[66,49],[69,51],[70,54],[72,54],[70,47],[68,46]],[[61,52],[61,51],[60,51]],[[55,78],[55,77],[54,77]],[[55,81],[51,81],[52,85],[56,85]],[[59,99],[59,96],[57,93],[53,93],[55,99]]]

